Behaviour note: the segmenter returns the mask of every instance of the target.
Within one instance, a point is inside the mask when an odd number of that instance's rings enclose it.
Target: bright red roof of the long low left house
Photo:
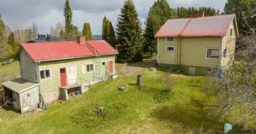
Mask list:
[[[96,48],[101,55],[117,54],[112,46],[101,40],[87,41]],[[23,48],[34,61],[62,60],[94,56],[87,45],[79,45],[77,42],[44,42],[23,43]]]

